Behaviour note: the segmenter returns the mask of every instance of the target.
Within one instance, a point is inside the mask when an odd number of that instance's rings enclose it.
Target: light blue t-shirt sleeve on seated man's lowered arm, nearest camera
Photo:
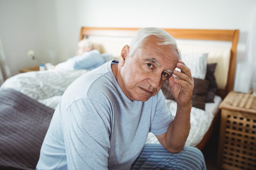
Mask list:
[[[107,170],[110,116],[99,102],[79,99],[62,118],[69,170]]]

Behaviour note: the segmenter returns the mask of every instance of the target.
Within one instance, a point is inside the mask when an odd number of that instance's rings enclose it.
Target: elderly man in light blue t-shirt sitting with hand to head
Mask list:
[[[175,117],[160,91],[165,81],[177,101]],[[119,62],[103,64],[67,88],[37,169],[206,169],[202,153],[184,147],[193,86],[173,37],[158,28],[140,29]],[[148,132],[161,145],[145,144]]]

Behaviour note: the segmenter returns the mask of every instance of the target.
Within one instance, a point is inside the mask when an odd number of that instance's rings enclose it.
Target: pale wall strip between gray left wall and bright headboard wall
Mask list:
[[[42,56],[53,64],[67,60],[79,40],[76,0],[37,0],[37,5]],[[54,59],[49,52],[56,53]]]

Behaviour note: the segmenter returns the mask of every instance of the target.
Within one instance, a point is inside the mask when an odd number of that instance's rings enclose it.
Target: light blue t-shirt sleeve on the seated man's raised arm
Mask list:
[[[165,103],[165,97],[162,90],[160,90],[157,93],[156,111],[151,122],[150,132],[154,133],[155,135],[162,135],[167,131],[173,119],[174,116],[171,115],[171,112],[168,110]]]

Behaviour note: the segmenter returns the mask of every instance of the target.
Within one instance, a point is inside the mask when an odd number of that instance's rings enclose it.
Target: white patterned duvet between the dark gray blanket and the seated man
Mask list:
[[[86,72],[88,70],[49,70],[20,73],[7,79],[0,87],[0,90],[13,88],[55,109],[67,87]]]

